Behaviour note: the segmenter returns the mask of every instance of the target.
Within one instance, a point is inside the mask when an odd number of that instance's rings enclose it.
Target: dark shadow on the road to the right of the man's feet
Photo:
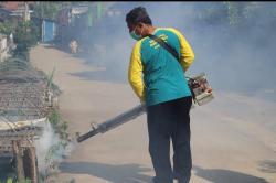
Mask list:
[[[197,176],[212,183],[268,183],[265,179],[230,170],[202,169],[197,165],[193,166],[193,170]]]

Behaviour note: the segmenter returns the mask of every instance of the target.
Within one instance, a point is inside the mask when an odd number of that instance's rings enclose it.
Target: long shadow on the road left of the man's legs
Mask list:
[[[142,173],[151,171],[139,164],[103,164],[89,162],[63,162],[60,165],[63,173],[89,174],[112,183],[151,183],[151,177]]]

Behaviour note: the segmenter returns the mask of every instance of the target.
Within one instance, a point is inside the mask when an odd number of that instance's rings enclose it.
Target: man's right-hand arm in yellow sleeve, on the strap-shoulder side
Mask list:
[[[180,64],[182,68],[187,71],[194,60],[194,53],[192,51],[192,47],[190,46],[189,42],[185,40],[182,33],[180,33],[176,29],[169,29],[169,30],[178,35],[180,43]]]

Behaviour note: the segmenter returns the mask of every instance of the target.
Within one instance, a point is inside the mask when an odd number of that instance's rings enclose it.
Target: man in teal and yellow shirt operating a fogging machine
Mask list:
[[[185,37],[176,29],[155,28],[145,8],[126,15],[131,37],[137,40],[129,63],[129,83],[147,106],[149,152],[155,183],[188,183],[191,176],[190,108],[191,92],[184,76],[194,60]],[[149,35],[157,35],[179,54],[178,61]],[[142,77],[144,74],[144,77]],[[173,170],[170,163],[173,144]]]

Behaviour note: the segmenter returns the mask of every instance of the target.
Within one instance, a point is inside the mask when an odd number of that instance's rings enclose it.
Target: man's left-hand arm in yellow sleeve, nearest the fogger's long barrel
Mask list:
[[[128,67],[128,82],[131,85],[135,94],[145,100],[145,88],[142,82],[142,64],[140,54],[141,41],[138,41],[132,50],[130,63]]]

